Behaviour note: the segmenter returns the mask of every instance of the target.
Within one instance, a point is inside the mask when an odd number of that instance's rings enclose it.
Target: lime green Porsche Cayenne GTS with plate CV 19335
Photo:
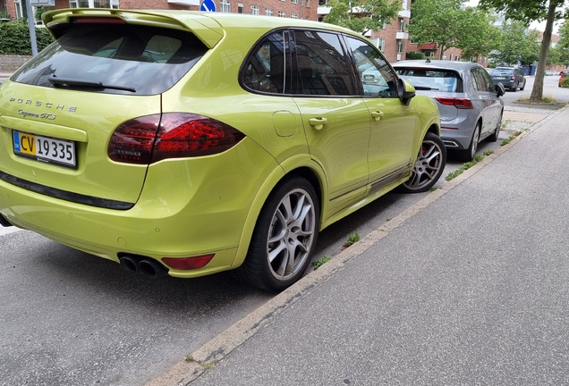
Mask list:
[[[131,273],[283,290],[318,231],[443,172],[437,106],[348,29],[101,9],[44,23],[55,43],[0,88],[4,226]]]

